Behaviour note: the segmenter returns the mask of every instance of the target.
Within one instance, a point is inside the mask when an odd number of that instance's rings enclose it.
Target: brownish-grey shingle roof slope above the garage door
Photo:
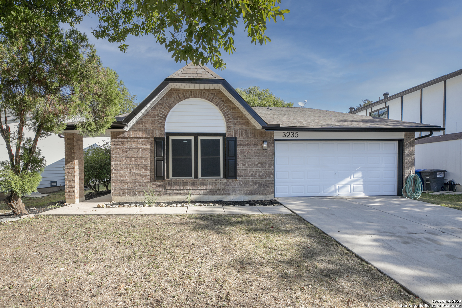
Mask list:
[[[281,127],[435,127],[392,119],[296,107],[252,107],[261,118]]]

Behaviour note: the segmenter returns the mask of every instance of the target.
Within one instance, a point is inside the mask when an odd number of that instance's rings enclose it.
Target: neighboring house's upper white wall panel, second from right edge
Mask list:
[[[420,91],[418,91],[420,92]],[[443,127],[444,83],[440,82],[422,90],[422,123]],[[430,132],[422,132],[422,136]],[[438,136],[443,132],[434,132]]]

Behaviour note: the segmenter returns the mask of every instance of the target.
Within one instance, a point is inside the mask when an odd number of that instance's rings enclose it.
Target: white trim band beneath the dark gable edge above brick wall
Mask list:
[[[158,103],[158,101],[164,97],[165,94],[167,94],[170,89],[194,89],[194,90],[220,90],[222,91],[226,97],[228,97],[232,103],[236,105],[236,107],[241,110],[241,112],[252,122],[252,124],[257,128],[261,129],[261,125],[258,124],[258,122],[247,112],[247,110],[244,109],[244,107],[237,102],[237,100],[231,95],[230,92],[228,92],[223,85],[217,85],[217,84],[175,84],[175,83],[170,83],[165,86],[165,88],[159,92],[159,94],[152,99],[151,102],[149,102],[145,108],[143,108],[133,119],[130,121],[126,127],[123,128],[123,131],[128,131],[130,128],[132,128],[140,119],[143,117],[155,104]],[[111,130],[114,131],[114,130]]]

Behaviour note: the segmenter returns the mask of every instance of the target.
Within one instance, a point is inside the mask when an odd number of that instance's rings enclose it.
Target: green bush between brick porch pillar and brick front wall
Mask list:
[[[111,182],[111,143],[104,141],[102,146],[90,146],[84,151],[84,182],[98,193],[100,185],[109,190]]]

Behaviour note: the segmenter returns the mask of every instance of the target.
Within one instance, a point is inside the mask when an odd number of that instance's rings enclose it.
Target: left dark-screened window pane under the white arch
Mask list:
[[[171,139],[172,177],[192,177],[192,139]]]

